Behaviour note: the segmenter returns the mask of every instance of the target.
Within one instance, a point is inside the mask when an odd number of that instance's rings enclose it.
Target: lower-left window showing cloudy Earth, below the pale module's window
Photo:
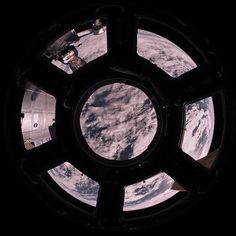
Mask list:
[[[99,184],[65,162],[48,171],[52,179],[67,193],[90,206],[96,206]]]

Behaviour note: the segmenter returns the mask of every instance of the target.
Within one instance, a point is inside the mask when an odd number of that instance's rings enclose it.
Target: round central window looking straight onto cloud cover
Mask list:
[[[142,154],[157,127],[157,113],[147,94],[125,83],[95,90],[80,114],[80,128],[87,144],[109,160],[125,161]]]

